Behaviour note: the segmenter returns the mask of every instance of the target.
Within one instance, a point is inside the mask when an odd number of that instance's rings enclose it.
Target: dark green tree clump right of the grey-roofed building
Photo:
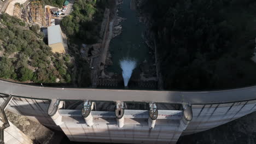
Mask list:
[[[100,39],[101,22],[108,2],[104,0],[75,1],[73,12],[63,18],[61,26],[71,39],[94,44]]]

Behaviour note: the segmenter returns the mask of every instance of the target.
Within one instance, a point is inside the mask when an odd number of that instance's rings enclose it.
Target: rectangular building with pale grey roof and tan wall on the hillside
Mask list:
[[[48,45],[51,47],[52,51],[54,53],[55,52],[65,53],[60,25],[48,27],[47,32],[48,32]]]

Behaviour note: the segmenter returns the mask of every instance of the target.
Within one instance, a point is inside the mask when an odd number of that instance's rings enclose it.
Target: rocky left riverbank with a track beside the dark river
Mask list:
[[[115,11],[119,1],[114,1],[114,7],[105,9],[104,17],[101,23],[100,37],[101,40],[97,44],[84,45],[80,50],[84,57],[87,57],[87,61],[90,64],[91,69],[91,82],[92,87],[97,87],[98,79],[106,79],[109,76],[104,73],[106,65],[111,64],[111,55],[109,53],[109,43],[113,38],[113,35],[117,36],[117,31],[114,27],[114,23],[117,20]]]

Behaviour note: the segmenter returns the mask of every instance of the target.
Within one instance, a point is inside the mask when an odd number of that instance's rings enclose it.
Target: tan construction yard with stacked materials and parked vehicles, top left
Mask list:
[[[66,0],[62,8],[44,5],[40,0],[0,0],[0,13],[16,16],[28,24],[40,27],[55,25],[55,19],[62,19],[72,11],[73,0]]]

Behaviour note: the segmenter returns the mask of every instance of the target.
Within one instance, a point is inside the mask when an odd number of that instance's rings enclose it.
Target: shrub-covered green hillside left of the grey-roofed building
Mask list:
[[[0,77],[22,82],[71,82],[69,59],[51,52],[38,26],[28,28],[21,20],[2,14],[0,33]]]

